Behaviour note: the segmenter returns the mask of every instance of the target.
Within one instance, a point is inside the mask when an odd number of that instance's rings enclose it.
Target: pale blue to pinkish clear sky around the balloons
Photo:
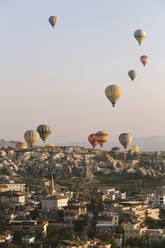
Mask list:
[[[42,123],[53,143],[98,130],[113,141],[164,136],[164,13],[164,0],[0,0],[0,138],[23,140]],[[147,34],[141,47],[136,29]],[[110,84],[123,92],[116,108],[104,94]]]

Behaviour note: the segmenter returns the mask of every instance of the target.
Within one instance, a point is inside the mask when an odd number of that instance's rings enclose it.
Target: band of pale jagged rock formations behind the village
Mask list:
[[[0,172],[16,175],[20,172],[56,179],[94,177],[95,173],[139,176],[165,175],[165,160],[151,155],[110,153],[83,147],[55,147],[19,150],[0,149]]]

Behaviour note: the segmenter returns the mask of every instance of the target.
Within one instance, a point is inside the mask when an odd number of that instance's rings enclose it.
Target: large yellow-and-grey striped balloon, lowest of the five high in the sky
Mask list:
[[[118,85],[109,85],[105,89],[105,95],[108,100],[112,103],[112,106],[115,107],[115,103],[119,100],[122,95],[122,91]]]

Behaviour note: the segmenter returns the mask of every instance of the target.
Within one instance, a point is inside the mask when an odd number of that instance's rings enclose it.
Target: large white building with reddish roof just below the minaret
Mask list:
[[[57,210],[68,205],[68,196],[55,195],[42,200],[43,210]]]

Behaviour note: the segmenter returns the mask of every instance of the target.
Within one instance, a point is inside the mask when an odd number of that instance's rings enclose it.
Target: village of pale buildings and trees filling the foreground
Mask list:
[[[0,184],[0,247],[164,247],[165,188],[145,199],[114,187],[56,188],[53,177],[39,192]]]

